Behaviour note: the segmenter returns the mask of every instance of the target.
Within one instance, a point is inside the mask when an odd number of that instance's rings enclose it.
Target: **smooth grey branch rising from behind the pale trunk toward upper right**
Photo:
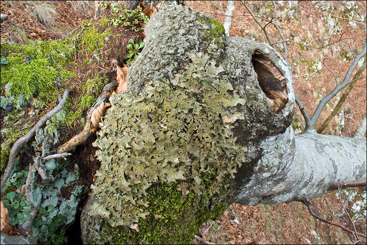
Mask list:
[[[325,96],[324,98],[321,99],[318,107],[316,108],[312,118],[310,119],[310,123],[306,124],[306,128],[305,131],[309,131],[309,130],[314,130],[315,129],[315,124],[317,122],[317,120],[320,117],[321,111],[324,108],[324,106],[326,105],[327,102],[330,101],[330,99],[332,99],[334,96],[336,96],[342,89],[344,89],[350,82],[350,76],[352,75],[354,69],[356,68],[358,61],[366,54],[366,43],[365,46],[362,50],[362,52],[360,52],[355,58],[354,61],[352,63],[352,65],[349,67],[348,72],[345,74],[344,80],[341,84],[339,84],[338,86],[336,86],[333,91],[331,91],[327,96]]]

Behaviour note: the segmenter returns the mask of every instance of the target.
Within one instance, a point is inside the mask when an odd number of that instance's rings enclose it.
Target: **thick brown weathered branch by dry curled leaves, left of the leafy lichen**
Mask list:
[[[105,103],[104,101],[108,98],[110,98],[112,91],[115,90],[117,87],[117,82],[110,82],[106,84],[103,89],[102,93],[97,99],[97,101],[92,105],[90,111],[87,114],[87,121],[84,125],[83,130],[72,137],[68,142],[63,144],[59,149],[57,150],[58,153],[66,152],[75,149],[75,147],[79,146],[80,144],[86,142],[88,138],[95,132],[96,127],[93,126],[92,123],[92,113],[94,110],[96,110],[102,103]],[[105,108],[106,109],[106,108]]]

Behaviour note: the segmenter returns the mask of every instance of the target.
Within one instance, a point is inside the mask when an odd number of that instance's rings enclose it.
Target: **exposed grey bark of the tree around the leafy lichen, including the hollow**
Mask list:
[[[145,32],[145,47],[127,75],[127,93],[138,95],[152,80],[174,79],[191,62],[190,53],[202,52],[223,65],[225,71],[219,73],[219,79],[229,82],[231,93],[246,100],[227,108],[229,115],[243,117],[232,121],[231,130],[236,144],[248,149],[247,162],[237,169],[228,203],[294,201],[324,195],[334,181],[366,178],[366,140],[314,132],[294,135],[291,122],[295,96],[290,68],[270,46],[225,37],[218,22],[181,5],[163,4]],[[120,234],[123,229],[111,228],[105,219],[88,214],[95,201],[90,196],[82,212],[83,242],[116,242],[120,241],[118,237],[126,237]],[[122,242],[129,241],[137,242],[129,238]],[[157,240],[144,243],[152,241]]]

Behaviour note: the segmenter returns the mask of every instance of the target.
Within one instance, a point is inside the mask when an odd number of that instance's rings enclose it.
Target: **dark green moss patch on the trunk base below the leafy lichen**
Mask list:
[[[226,200],[210,205],[213,199],[207,194],[189,193],[183,197],[177,191],[177,183],[155,185],[148,191],[150,214],[139,219],[139,231],[127,226],[111,227],[102,221],[101,240],[90,243],[111,244],[191,244],[201,224],[221,216],[227,209]]]

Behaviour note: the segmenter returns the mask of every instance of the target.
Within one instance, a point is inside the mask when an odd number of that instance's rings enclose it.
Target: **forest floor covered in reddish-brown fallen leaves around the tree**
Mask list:
[[[71,2],[73,1],[50,1],[55,7],[56,15],[52,25],[46,26],[35,20],[32,8],[29,8],[26,2],[1,1],[1,14],[9,15],[9,20],[1,24],[1,40],[14,40],[21,44],[27,44],[29,40],[46,41],[62,38],[69,31],[79,27],[83,20],[90,20],[94,15],[94,3],[90,9],[86,6],[84,6],[85,9],[81,9],[83,6],[79,4],[78,9]],[[251,2],[249,5],[260,11],[264,6],[261,4],[267,4],[263,1],[258,1],[258,3]],[[227,1],[186,1],[186,4],[195,10],[205,12],[223,24]],[[288,5],[288,3],[284,4]],[[335,1],[332,4],[336,8],[342,9],[341,3]],[[234,5],[235,9],[232,15],[242,16],[233,17],[229,31],[230,36],[249,38],[251,34],[254,39],[267,43],[265,35],[253,22],[252,17],[243,16],[248,12],[241,2],[235,1]],[[295,36],[294,40],[298,40],[297,42],[303,42],[303,37],[311,39],[313,36],[314,40],[309,45],[322,43],[325,38],[330,42],[338,40],[340,35],[331,36],[327,33],[328,27],[325,27],[324,24],[325,13],[323,10],[315,7],[316,4],[312,1],[302,1],[299,5],[298,18],[286,18],[280,23],[286,36]],[[366,2],[358,2],[358,6],[358,11],[366,13]],[[321,20],[321,17],[323,22],[320,24],[318,20]],[[321,70],[316,72],[312,68],[312,65],[318,62],[317,57],[320,60],[328,57],[329,59],[325,60],[325,64],[336,73],[336,77],[341,81],[350,66],[350,63],[343,60],[343,57],[348,58],[350,54],[342,56],[342,50],[347,50],[349,53],[348,46],[351,49],[362,49],[363,47],[365,40],[359,37],[366,36],[366,27],[356,29],[348,22],[342,22],[341,26],[344,31],[343,38],[346,38],[346,41],[321,49],[322,53],[315,54],[307,48],[301,50],[302,48],[296,43],[291,43],[288,46],[288,60],[292,65],[295,92],[309,115],[312,115],[316,109],[320,98],[327,95],[335,87],[333,74],[324,65],[321,66]],[[274,42],[280,40],[273,26],[268,25],[267,29]],[[134,33],[131,33],[131,36],[126,36],[126,40],[134,37]],[[319,52],[319,49],[314,50]],[[364,75],[366,75],[366,71]],[[335,104],[334,98],[321,114],[316,127],[321,125]],[[358,123],[366,113],[366,79],[356,83],[342,108],[343,114],[339,117],[337,115],[323,133],[344,137],[353,136],[359,126]],[[295,109],[295,117],[301,122],[300,128],[303,128],[305,123],[296,104]],[[74,131],[78,131],[75,126]],[[83,151],[92,146],[88,144],[88,146],[81,147],[83,149],[80,150]],[[89,155],[85,152],[84,154]],[[78,157],[82,158],[83,154]],[[90,170],[82,173],[82,175],[88,174],[91,175]],[[90,178],[92,177],[90,176]],[[326,196],[312,199],[314,212],[324,219],[332,220],[353,230],[353,225],[347,215],[334,216],[340,213],[342,208],[337,194],[337,192],[332,192]],[[360,196],[348,201],[346,209],[350,211],[352,205],[359,200],[361,200]],[[366,216],[365,219],[359,219],[354,224],[357,231],[366,234]],[[208,243],[215,244],[352,244],[355,242],[352,234],[339,227],[315,220],[307,207],[299,202],[257,206],[232,204],[216,221],[204,223],[197,235]],[[366,243],[366,239],[360,239],[362,243]],[[198,243],[200,242],[197,239],[193,241],[193,244]]]

